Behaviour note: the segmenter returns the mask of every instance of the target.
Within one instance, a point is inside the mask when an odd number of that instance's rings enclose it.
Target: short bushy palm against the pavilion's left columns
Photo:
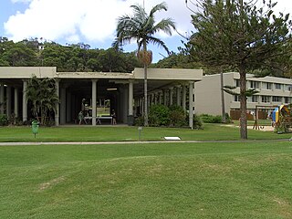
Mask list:
[[[58,103],[54,78],[30,78],[27,82],[26,99],[32,102],[32,113],[41,124],[47,123],[47,114],[56,111]],[[39,120],[40,118],[40,120]]]

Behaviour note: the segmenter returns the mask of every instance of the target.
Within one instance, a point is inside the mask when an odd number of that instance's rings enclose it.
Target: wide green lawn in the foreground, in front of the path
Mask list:
[[[5,219],[292,218],[291,141],[1,146],[0,166]]]

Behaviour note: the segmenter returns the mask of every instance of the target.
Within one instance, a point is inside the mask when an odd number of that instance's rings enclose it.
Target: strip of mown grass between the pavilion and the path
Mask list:
[[[162,141],[166,136],[178,136],[182,140],[220,141],[239,140],[239,128],[220,124],[204,124],[203,130],[175,128],[143,128],[141,139],[138,127],[40,127],[36,138],[30,127],[1,127],[0,141]],[[250,140],[289,139],[291,134],[273,131],[248,130]]]

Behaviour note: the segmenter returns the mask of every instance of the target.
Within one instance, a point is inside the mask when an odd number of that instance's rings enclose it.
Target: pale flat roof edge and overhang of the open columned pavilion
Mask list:
[[[22,86],[20,79],[31,78],[59,78],[61,81],[90,81],[101,80],[109,84],[134,83],[134,95],[143,95],[144,68],[135,68],[131,73],[120,72],[57,72],[56,67],[0,67],[0,79],[3,83]],[[148,92],[171,88],[188,81],[199,81],[203,78],[202,69],[184,68],[148,68]],[[103,83],[102,83],[103,84]]]

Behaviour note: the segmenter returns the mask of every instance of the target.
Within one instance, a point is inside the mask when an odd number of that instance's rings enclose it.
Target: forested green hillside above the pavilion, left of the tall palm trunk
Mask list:
[[[131,72],[141,67],[135,52],[114,48],[90,48],[89,45],[61,46],[36,39],[14,43],[0,37],[1,67],[57,67],[57,71]]]

